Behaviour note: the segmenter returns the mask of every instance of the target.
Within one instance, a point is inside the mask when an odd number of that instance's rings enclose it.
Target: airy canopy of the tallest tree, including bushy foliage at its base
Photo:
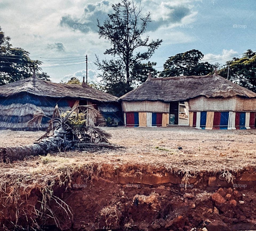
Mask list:
[[[121,3],[112,5],[112,8],[114,13],[109,14],[102,25],[98,20],[98,33],[100,38],[108,40],[111,44],[104,54],[115,58],[102,62],[97,59],[95,64],[102,70],[99,77],[103,79],[102,83],[106,84],[109,93],[116,88],[121,92],[115,90],[115,95],[120,93],[121,96],[133,89],[131,85],[136,81],[138,72],[134,76],[132,70],[137,70],[142,61],[148,60],[162,40],[149,41],[149,36],[143,37],[151,18],[149,12],[145,16],[142,15],[140,5],[122,0]],[[114,70],[116,78],[110,79]]]

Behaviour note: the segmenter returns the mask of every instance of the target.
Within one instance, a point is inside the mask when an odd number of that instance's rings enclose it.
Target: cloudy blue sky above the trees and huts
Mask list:
[[[137,0],[138,1],[138,0]],[[0,26],[11,37],[13,47],[30,52],[41,60],[43,72],[53,82],[67,81],[86,74],[88,81],[99,81],[95,55],[104,55],[110,43],[97,33],[118,1],[91,0],[0,0]],[[141,0],[142,14],[151,13],[144,36],[163,42],[149,61],[162,70],[170,56],[197,49],[203,60],[224,64],[241,57],[247,49],[256,50],[255,0]],[[227,57],[228,56],[228,57]],[[146,61],[147,62],[147,61]]]

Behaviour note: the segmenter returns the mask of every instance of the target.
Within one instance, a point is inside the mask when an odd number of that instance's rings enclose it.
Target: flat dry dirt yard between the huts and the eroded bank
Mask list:
[[[56,153],[65,162],[162,165],[186,171],[240,170],[256,165],[256,130],[201,130],[191,127],[103,128],[123,149]],[[32,144],[43,132],[0,131],[0,146]],[[182,147],[181,150],[178,147]],[[34,161],[37,161],[36,157]],[[32,161],[32,160],[30,160]],[[55,159],[55,162],[58,159]],[[32,162],[31,162],[32,164]]]

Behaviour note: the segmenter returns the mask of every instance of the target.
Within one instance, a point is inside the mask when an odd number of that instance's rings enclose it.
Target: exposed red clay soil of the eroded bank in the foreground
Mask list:
[[[65,191],[58,186],[54,195],[61,198],[73,216],[52,200],[49,208],[54,219],[45,217],[45,230],[256,230],[256,186],[239,188],[219,188],[201,182],[187,189],[179,184],[146,185],[139,183],[119,184],[104,178],[91,183],[73,182],[71,189]],[[25,197],[23,196],[23,200]],[[20,206],[20,224],[28,225],[27,217],[22,215],[26,207],[33,218],[34,208],[42,200],[38,191],[32,191]],[[35,206],[35,207],[34,207]],[[13,230],[10,208],[0,206],[1,227],[4,224]],[[11,215],[12,214],[12,215]],[[43,222],[43,219],[38,222]],[[23,223],[23,224],[22,224]],[[31,224],[31,222],[30,222]],[[1,229],[0,230],[7,230]]]

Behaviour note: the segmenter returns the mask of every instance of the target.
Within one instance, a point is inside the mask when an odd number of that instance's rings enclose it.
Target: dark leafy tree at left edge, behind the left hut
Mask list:
[[[31,60],[22,48],[13,48],[10,40],[0,27],[0,85],[30,78],[33,70],[41,70],[41,61]]]

